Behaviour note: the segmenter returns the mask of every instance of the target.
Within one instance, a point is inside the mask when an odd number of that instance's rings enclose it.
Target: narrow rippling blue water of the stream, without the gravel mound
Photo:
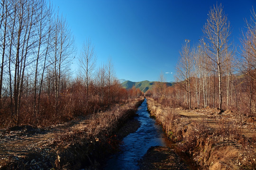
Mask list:
[[[137,110],[138,121],[141,126],[135,133],[123,139],[121,152],[113,155],[107,162],[105,170],[137,170],[137,162],[151,146],[166,146],[162,127],[155,124],[147,111],[146,99]]]

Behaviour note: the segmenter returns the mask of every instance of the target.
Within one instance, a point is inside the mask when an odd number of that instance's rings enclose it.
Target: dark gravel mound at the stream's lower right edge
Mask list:
[[[139,161],[140,170],[189,170],[173,149],[153,146]]]

